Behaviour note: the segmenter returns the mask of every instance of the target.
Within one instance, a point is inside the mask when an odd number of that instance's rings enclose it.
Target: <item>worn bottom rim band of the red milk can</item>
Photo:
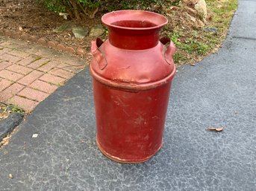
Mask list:
[[[112,161],[116,161],[116,162],[122,163],[122,164],[139,164],[139,163],[143,163],[143,162],[149,161],[149,159],[152,158],[163,146],[163,142],[162,142],[161,145],[159,146],[159,148],[157,149],[157,151],[154,152],[153,155],[150,155],[150,156],[148,156],[146,158],[142,158],[142,159],[131,160],[131,159],[118,158],[118,157],[110,155],[109,153],[104,151],[104,149],[100,145],[97,137],[96,137],[96,143],[97,143],[97,146],[99,147],[99,150],[102,152],[103,155],[105,155],[107,158],[109,158]]]

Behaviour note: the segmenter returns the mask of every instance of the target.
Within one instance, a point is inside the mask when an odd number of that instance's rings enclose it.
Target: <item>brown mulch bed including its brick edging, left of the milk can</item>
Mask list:
[[[0,34],[14,39],[23,39],[46,45],[59,51],[86,56],[90,51],[90,42],[95,37],[86,36],[75,39],[71,30],[63,33],[54,29],[67,22],[73,25],[91,28],[101,23],[101,16],[76,22],[63,19],[58,13],[49,12],[34,0],[12,0],[0,3]]]

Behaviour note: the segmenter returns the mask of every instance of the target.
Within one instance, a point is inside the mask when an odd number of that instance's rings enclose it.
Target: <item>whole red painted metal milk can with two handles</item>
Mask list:
[[[159,39],[167,19],[142,10],[102,16],[109,39],[92,42],[96,141],[107,158],[149,160],[162,146],[175,45]]]

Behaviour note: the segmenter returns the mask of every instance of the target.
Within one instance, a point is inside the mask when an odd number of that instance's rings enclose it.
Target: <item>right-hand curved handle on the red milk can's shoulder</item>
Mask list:
[[[165,45],[164,59],[169,65],[171,65],[173,63],[173,54],[176,51],[176,46],[168,36],[164,36],[163,38],[161,38],[160,42]]]

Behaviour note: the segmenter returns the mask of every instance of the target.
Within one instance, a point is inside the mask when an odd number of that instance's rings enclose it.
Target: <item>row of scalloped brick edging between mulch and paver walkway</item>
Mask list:
[[[87,51],[84,50],[84,48],[74,48],[72,46],[66,46],[63,43],[54,41],[54,40],[48,40],[43,37],[39,37],[36,35],[30,35],[28,33],[16,33],[12,30],[7,29],[0,29],[0,35],[2,36],[8,36],[13,39],[22,39],[25,41],[33,42],[37,45],[43,45],[48,48],[55,49],[57,51],[67,52],[69,54],[75,54],[78,56],[86,56]]]

